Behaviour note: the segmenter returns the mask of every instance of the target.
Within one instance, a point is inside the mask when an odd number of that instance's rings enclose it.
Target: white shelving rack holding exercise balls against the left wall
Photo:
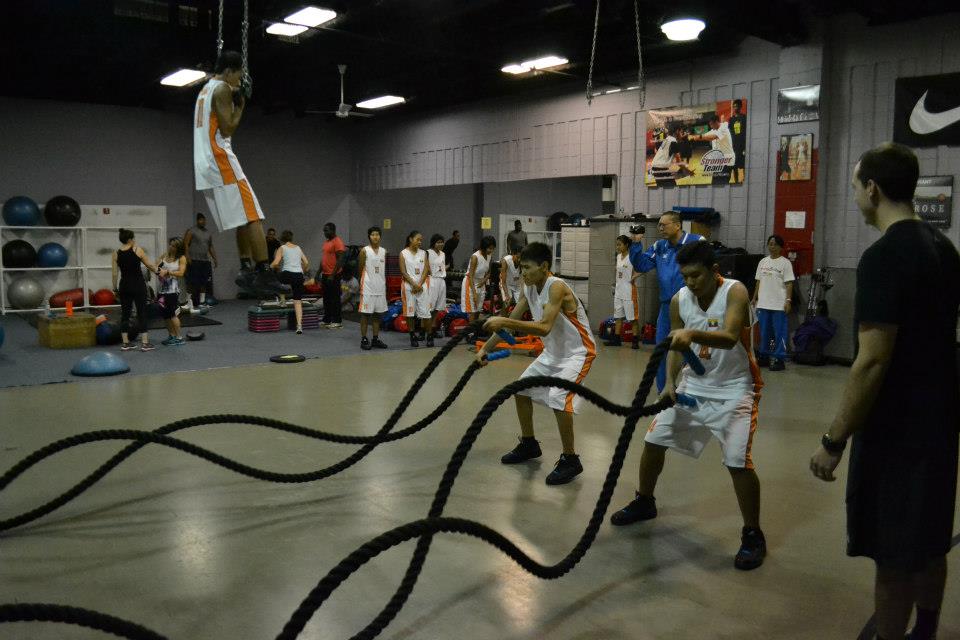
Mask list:
[[[34,249],[47,242],[57,242],[67,250],[64,267],[30,267],[9,269],[0,263],[0,313],[32,313],[42,311],[55,293],[68,289],[83,290],[81,308],[90,306],[89,292],[112,288],[111,254],[119,246],[117,232],[127,228],[136,234],[137,244],[151,259],[159,256],[163,242],[161,227],[134,226],[77,226],[77,227],[8,227],[0,226],[0,245],[15,239],[26,240]],[[32,309],[15,309],[8,299],[10,285],[20,277],[29,276],[43,287],[40,305]],[[114,305],[117,306],[117,305]]]

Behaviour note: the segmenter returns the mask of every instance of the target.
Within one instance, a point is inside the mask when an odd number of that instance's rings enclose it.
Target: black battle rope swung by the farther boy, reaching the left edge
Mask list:
[[[469,334],[469,335],[472,335]],[[466,386],[467,382],[477,372],[479,368],[476,364],[471,365],[463,373],[460,379],[457,381],[457,384],[454,385],[450,393],[447,394],[447,397],[444,398],[443,402],[440,405],[430,412],[425,418],[413,424],[410,427],[390,433],[390,430],[396,426],[397,422],[403,416],[404,412],[407,410],[407,407],[410,406],[410,403],[413,402],[413,399],[419,393],[423,384],[427,381],[433,372],[437,369],[440,363],[446,358],[454,347],[456,347],[460,342],[462,342],[468,336],[468,332],[463,332],[460,335],[452,338],[448,341],[430,360],[426,368],[420,373],[416,381],[410,386],[410,389],[407,391],[406,395],[403,396],[403,399],[400,401],[400,404],[397,405],[397,408],[394,409],[393,413],[380,428],[380,430],[373,436],[351,436],[343,435],[338,433],[327,433],[325,431],[318,431],[315,429],[308,429],[306,427],[301,427],[299,425],[290,424],[288,422],[283,422],[281,420],[273,420],[271,418],[262,418],[259,416],[245,416],[245,415],[234,415],[234,414],[217,414],[217,415],[208,415],[208,416],[198,416],[195,418],[187,418],[185,420],[178,420],[176,422],[171,422],[170,424],[164,425],[159,429],[154,431],[137,431],[130,429],[109,429],[103,431],[92,431],[89,433],[83,433],[76,436],[71,436],[69,438],[64,438],[63,440],[58,440],[53,442],[42,449],[38,449],[33,452],[13,467],[11,467],[5,474],[0,476],[0,492],[3,492],[7,486],[13,482],[17,477],[23,474],[27,469],[31,468],[38,462],[49,458],[52,455],[55,455],[71,447],[76,447],[81,444],[86,444],[88,442],[100,442],[103,440],[134,440],[132,444],[121,450],[115,456],[107,460],[103,465],[100,466],[96,471],[91,473],[89,476],[84,478],[82,481],[74,485],[69,490],[65,491],[63,494],[54,498],[53,500],[47,502],[44,505],[22,513],[11,518],[0,520],[0,531],[6,531],[8,529],[13,529],[14,527],[19,527],[28,522],[32,522],[37,518],[41,518],[52,511],[55,511],[67,504],[81,493],[89,489],[101,478],[103,478],[107,473],[112,471],[117,465],[121,462],[132,456],[136,453],[141,447],[148,443],[162,444],[174,449],[179,449],[185,453],[190,453],[197,457],[203,458],[214,464],[218,464],[222,467],[226,467],[231,471],[236,471],[243,475],[256,478],[258,480],[265,480],[267,482],[284,482],[284,483],[301,483],[301,482],[313,482],[314,480],[321,480],[327,478],[334,474],[340,473],[344,469],[347,469],[360,460],[362,460],[368,453],[373,451],[373,449],[383,442],[392,442],[394,440],[399,440],[405,438],[409,435],[412,435],[427,426],[429,426],[434,420],[436,420],[447,408],[453,404],[453,401],[457,399],[457,396],[460,395],[460,392]],[[340,462],[330,465],[324,469],[319,469],[317,471],[312,471],[308,473],[275,473],[272,471],[263,471],[255,467],[249,467],[247,465],[235,462],[223,456],[220,456],[212,451],[203,449],[196,445],[192,445],[188,442],[178,440],[176,438],[168,437],[166,434],[173,433],[175,431],[180,431],[181,429],[189,429],[191,427],[198,427],[202,425],[209,424],[251,424],[261,427],[267,427],[270,429],[276,429],[278,431],[286,431],[288,433],[294,433],[297,435],[305,436],[308,438],[315,438],[317,440],[325,440],[327,442],[337,442],[341,444],[362,444],[364,445],[352,455],[347,456]]]

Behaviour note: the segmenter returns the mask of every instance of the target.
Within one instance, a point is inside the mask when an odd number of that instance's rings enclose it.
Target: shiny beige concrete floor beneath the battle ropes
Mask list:
[[[358,354],[299,365],[104,379],[0,390],[0,469],[55,439],[101,428],[153,429],[204,413],[269,415],[344,433],[372,434],[433,350]],[[469,363],[457,349],[401,425],[427,413]],[[626,403],[647,360],[606,349],[586,383]],[[479,372],[434,426],[377,448],[327,480],[278,485],[149,446],[59,511],[0,534],[0,602],[97,609],[175,640],[274,637],[301,599],[345,555],[423,517],[459,438],[482,403],[528,359]],[[856,638],[872,612],[872,564],[844,554],[843,487],[815,480],[809,456],[832,417],[848,370],[767,373],[754,459],[770,554],[733,568],[740,516],[719,448],[696,461],[669,455],[660,517],[605,523],[572,572],[541,581],[472,538],[438,536],[406,607],[384,638],[694,639]],[[504,467],[517,433],[511,404],[493,416],[446,510],[479,520],[534,557],[559,560],[586,525],[621,426],[588,406],[577,418],[585,472],[543,479],[559,454],[552,415],[535,410],[544,457]],[[265,429],[200,427],[183,436],[277,471],[326,466],[354,450]],[[640,443],[627,456],[612,509],[633,496]],[[72,486],[122,445],[86,445],[47,460],[0,494],[0,518]],[[957,527],[960,531],[960,526]],[[314,616],[303,638],[347,638],[393,593],[413,543],[373,560]],[[960,637],[960,553],[950,558],[941,640]],[[102,638],[54,624],[0,626],[0,638]]]

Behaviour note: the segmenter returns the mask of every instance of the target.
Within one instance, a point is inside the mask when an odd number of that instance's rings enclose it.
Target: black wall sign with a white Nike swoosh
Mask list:
[[[897,78],[893,140],[911,147],[960,145],[960,73]]]

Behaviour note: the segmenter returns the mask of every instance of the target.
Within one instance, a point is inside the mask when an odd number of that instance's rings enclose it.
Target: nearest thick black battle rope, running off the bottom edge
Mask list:
[[[610,498],[613,495],[613,489],[616,486],[620,471],[623,468],[623,460],[626,457],[627,448],[630,446],[637,422],[641,417],[653,415],[673,404],[672,401],[668,399],[649,406],[643,406],[643,400],[650,391],[657,368],[660,361],[663,360],[668,347],[669,340],[665,340],[654,349],[650,356],[650,361],[647,363],[647,368],[644,371],[640,386],[634,396],[633,403],[630,406],[615,404],[579,384],[548,376],[532,376],[503,387],[483,405],[467,429],[467,432],[460,440],[460,444],[454,451],[453,457],[450,459],[450,463],[447,465],[447,469],[443,474],[427,517],[377,536],[342,560],[327,573],[304,599],[290,617],[290,620],[287,621],[287,624],[284,625],[280,635],[277,636],[278,640],[296,638],[317,609],[320,608],[327,598],[329,598],[350,575],[380,553],[398,544],[412,540],[413,538],[419,538],[419,540],[410,565],[407,567],[406,574],[403,577],[403,581],[384,609],[366,628],[354,636],[355,639],[376,637],[400,612],[400,609],[413,591],[413,587],[416,585],[417,578],[423,569],[423,564],[426,561],[427,553],[430,549],[430,542],[436,533],[462,533],[479,538],[495,546],[517,562],[524,570],[545,580],[559,578],[573,569],[586,554],[587,549],[590,548],[600,528],[600,524],[603,522],[603,517],[610,504]],[[475,368],[475,366],[471,366],[471,368]],[[463,466],[463,462],[470,452],[473,443],[480,435],[480,431],[483,430],[483,427],[489,421],[494,411],[517,392],[533,387],[557,387],[565,389],[580,395],[585,400],[592,402],[608,413],[626,417],[623,428],[620,431],[620,437],[617,440],[617,446],[614,449],[613,459],[610,462],[607,476],[603,482],[603,488],[600,491],[600,496],[597,500],[596,507],[594,507],[590,521],[587,523],[587,527],[580,537],[580,540],[570,553],[553,565],[540,564],[526,555],[505,536],[478,522],[462,518],[441,517],[457,474]],[[136,445],[131,446],[142,446],[142,444],[136,443]],[[0,623],[25,620],[68,622],[100,629],[123,638],[129,638],[130,640],[156,640],[157,638],[163,638],[163,636],[149,629],[96,611],[49,604],[0,605]]]

